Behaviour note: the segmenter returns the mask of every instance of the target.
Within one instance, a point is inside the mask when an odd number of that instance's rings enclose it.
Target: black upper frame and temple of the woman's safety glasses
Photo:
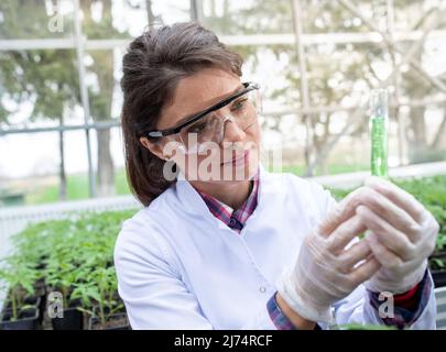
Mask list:
[[[236,100],[237,98],[240,98],[241,96],[244,96],[246,94],[260,89],[259,84],[253,82],[253,81],[247,81],[247,82],[242,82],[244,89],[233,94],[232,96],[225,98],[224,100],[210,106],[209,108],[203,110],[202,112],[193,116],[192,118],[187,119],[186,121],[182,122],[181,124],[178,124],[177,127],[174,128],[170,128],[170,129],[164,129],[164,130],[152,130],[145,133],[145,136],[148,139],[159,139],[159,138],[163,138],[163,136],[167,136],[167,135],[172,135],[172,134],[177,134],[181,132],[182,129],[184,129],[185,127],[200,120],[202,118],[204,118],[205,116],[207,116],[210,112],[214,112],[216,110],[219,110],[224,107],[226,107],[227,105],[231,103],[233,100]]]

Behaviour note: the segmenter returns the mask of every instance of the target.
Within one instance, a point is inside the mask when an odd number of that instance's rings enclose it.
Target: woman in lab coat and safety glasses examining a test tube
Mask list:
[[[151,29],[123,58],[127,172],[144,205],[115,250],[132,328],[434,328],[432,215],[384,180],[336,205],[263,169],[259,86],[241,66],[196,23]]]

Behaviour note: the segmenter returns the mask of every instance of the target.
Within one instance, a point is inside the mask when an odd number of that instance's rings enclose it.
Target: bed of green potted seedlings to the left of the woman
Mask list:
[[[104,323],[108,315],[123,309],[112,257],[121,223],[133,213],[73,213],[68,219],[32,224],[13,237],[15,253],[2,263],[0,279],[33,294],[34,282],[44,278],[48,290],[62,293],[65,307],[80,299],[80,310],[95,314]],[[23,304],[20,297],[13,298],[17,307]]]

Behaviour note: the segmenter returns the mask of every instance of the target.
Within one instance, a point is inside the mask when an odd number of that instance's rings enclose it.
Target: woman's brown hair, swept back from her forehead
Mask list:
[[[152,28],[137,37],[122,59],[121,113],[127,177],[132,193],[148,206],[172,184],[166,163],[145,148],[140,136],[155,129],[162,108],[172,101],[182,78],[217,67],[241,76],[242,58],[195,22]]]

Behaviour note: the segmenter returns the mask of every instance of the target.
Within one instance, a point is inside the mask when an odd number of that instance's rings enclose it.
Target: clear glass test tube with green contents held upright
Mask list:
[[[389,106],[387,89],[373,89],[370,95],[371,174],[388,177]]]

